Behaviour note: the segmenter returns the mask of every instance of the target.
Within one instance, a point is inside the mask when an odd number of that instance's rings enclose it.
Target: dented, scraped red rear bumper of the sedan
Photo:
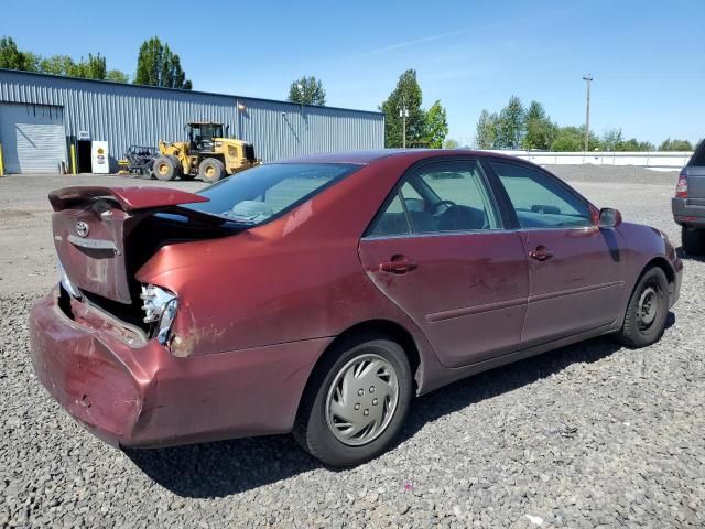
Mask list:
[[[34,371],[70,415],[113,445],[289,432],[332,339],[176,358],[156,339],[121,336],[95,315],[79,323],[57,300],[58,289],[31,312]]]

